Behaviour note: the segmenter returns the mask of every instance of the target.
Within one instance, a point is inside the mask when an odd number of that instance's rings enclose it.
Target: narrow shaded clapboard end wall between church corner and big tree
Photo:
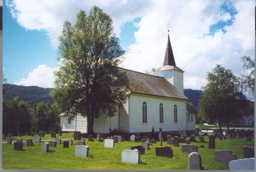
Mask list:
[[[128,128],[128,120],[129,120],[129,113],[128,113],[128,102],[129,99],[123,102],[119,106],[119,131],[120,132],[129,132]]]

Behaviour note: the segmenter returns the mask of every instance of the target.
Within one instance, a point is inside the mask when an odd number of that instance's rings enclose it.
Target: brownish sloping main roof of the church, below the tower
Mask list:
[[[149,75],[120,67],[119,69],[126,73],[129,79],[130,91],[133,93],[188,99],[184,94],[180,93],[174,85],[161,76]]]

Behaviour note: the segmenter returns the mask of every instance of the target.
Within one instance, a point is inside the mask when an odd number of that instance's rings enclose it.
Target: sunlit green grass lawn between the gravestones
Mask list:
[[[64,133],[60,138],[72,138],[73,133]],[[31,139],[31,136],[15,137],[20,139]],[[45,135],[42,138],[51,139],[50,135]],[[198,136],[196,136],[196,140]],[[215,162],[214,149],[208,149],[208,136],[205,136],[205,143],[191,142],[198,147],[204,144],[205,149],[198,149],[198,153],[202,157],[202,166],[210,170],[225,170],[229,169],[228,164]],[[254,140],[253,140],[254,141]],[[243,158],[243,144],[254,144],[254,142],[243,139],[232,139],[231,141],[215,139],[215,150],[229,149],[236,154],[237,159]],[[57,145],[57,148],[50,148],[55,150],[51,153],[41,152],[41,143],[34,143],[34,147],[24,148],[28,150],[14,151],[13,145],[3,143],[2,154],[2,168],[3,169],[94,169],[94,170],[174,170],[174,169],[188,169],[188,153],[181,152],[180,147],[173,147],[173,158],[156,157],[155,147],[159,146],[159,142],[150,146],[151,150],[146,150],[145,155],[141,156],[141,164],[131,165],[125,164],[121,160],[121,154],[124,149],[130,149],[132,145],[140,145],[141,142],[119,142],[115,144],[115,148],[104,148],[103,142],[89,142],[89,158],[75,157],[75,145],[69,145],[68,149],[63,148],[63,145]],[[76,144],[76,141],[74,141]],[[163,142],[163,145],[167,145]]]

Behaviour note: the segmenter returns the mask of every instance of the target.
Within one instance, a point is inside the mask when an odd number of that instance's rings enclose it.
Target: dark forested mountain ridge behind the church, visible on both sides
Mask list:
[[[41,88],[37,86],[21,86],[14,84],[3,84],[4,95],[3,98],[11,100],[18,96],[21,100],[28,102],[29,105],[34,106],[38,102],[50,102],[53,104],[53,99],[50,97],[51,88]],[[198,100],[203,92],[201,90],[184,89],[185,96],[192,102],[195,107],[198,106]]]

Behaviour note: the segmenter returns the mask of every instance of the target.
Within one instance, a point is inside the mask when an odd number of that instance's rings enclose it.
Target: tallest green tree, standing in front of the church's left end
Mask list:
[[[70,118],[86,116],[88,133],[93,133],[94,115],[113,116],[127,92],[127,77],[116,67],[125,51],[112,23],[93,6],[88,15],[80,11],[74,25],[65,21],[59,38],[60,68],[51,96]]]

